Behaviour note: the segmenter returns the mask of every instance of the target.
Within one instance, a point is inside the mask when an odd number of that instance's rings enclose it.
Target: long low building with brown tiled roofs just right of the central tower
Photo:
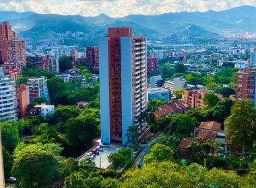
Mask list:
[[[154,112],[154,121],[157,123],[159,118],[163,118],[168,114],[185,113],[185,111],[191,109],[191,107],[183,101],[170,101],[166,105],[156,107]]]

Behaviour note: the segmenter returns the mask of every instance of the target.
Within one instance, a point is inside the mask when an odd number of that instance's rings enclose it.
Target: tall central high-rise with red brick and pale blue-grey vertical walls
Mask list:
[[[127,143],[127,128],[139,125],[146,110],[146,37],[131,36],[131,28],[108,28],[98,40],[102,142]]]

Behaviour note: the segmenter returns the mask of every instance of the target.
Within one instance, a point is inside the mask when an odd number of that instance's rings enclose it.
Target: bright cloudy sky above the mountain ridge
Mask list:
[[[252,5],[256,0],[0,0],[1,11],[34,11],[61,15],[79,14],[96,16],[104,13],[111,17],[130,14],[158,15],[181,11],[221,11]]]

